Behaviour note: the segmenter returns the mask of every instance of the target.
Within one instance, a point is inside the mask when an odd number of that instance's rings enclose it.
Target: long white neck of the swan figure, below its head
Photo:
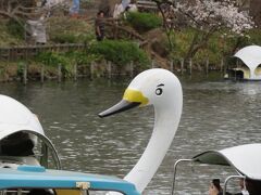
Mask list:
[[[174,139],[182,114],[182,102],[178,107],[169,105],[165,108],[154,107],[154,128],[150,141],[133,170],[124,178],[134,183],[141,193],[160,167]]]

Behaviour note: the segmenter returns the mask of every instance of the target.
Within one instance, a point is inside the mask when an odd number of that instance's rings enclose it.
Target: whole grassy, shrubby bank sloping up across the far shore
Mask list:
[[[147,18],[147,17],[146,17]],[[124,23],[126,26],[134,26],[134,29],[139,30],[138,20],[132,20]],[[104,76],[108,73],[107,63],[113,64],[113,72],[121,75],[124,72],[129,72],[129,64],[135,65],[135,72],[151,67],[150,55],[148,51],[153,51],[166,63],[174,62],[174,67],[181,67],[181,61],[186,56],[192,41],[195,29],[183,28],[174,31],[172,52],[167,50],[167,40],[164,31],[159,27],[160,22],[156,21],[153,27],[141,30],[141,36],[148,42],[152,42],[147,52],[140,49],[136,40],[128,40],[126,36],[123,40],[105,40],[97,42],[95,39],[94,24],[85,20],[76,20],[70,17],[52,17],[48,21],[47,32],[48,43],[87,43],[86,51],[70,51],[70,52],[40,52],[35,57],[27,61],[17,60],[15,62],[0,62],[0,80],[11,81],[21,80],[25,64],[28,70],[29,79],[39,79],[41,69],[45,67],[46,79],[58,77],[58,66],[61,65],[63,78],[73,78],[75,75],[75,65],[77,65],[78,75],[91,75],[95,72],[97,76]],[[140,22],[141,23],[141,22]],[[141,25],[144,26],[144,25]],[[23,30],[18,30],[20,26],[8,20],[0,20],[0,47],[25,46]],[[156,29],[157,28],[157,29]],[[16,32],[15,32],[16,31]],[[220,69],[221,60],[224,64],[229,65],[235,63],[231,57],[234,52],[245,46],[259,44],[261,46],[261,31],[252,29],[245,37],[224,36],[224,31],[215,32],[209,42],[200,48],[192,57],[192,69],[206,70],[208,61],[210,69]],[[94,69],[91,64],[97,64]],[[185,64],[188,69],[188,63]],[[109,68],[110,69],[110,68]],[[188,73],[188,72],[187,72]]]

